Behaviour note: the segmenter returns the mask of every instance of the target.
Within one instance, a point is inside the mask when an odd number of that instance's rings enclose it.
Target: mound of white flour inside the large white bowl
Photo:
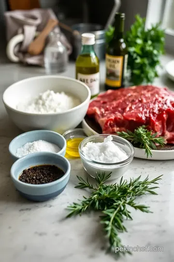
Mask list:
[[[35,114],[60,113],[81,104],[78,98],[69,96],[64,92],[55,93],[47,90],[39,96],[32,98],[28,103],[19,103],[16,109]]]

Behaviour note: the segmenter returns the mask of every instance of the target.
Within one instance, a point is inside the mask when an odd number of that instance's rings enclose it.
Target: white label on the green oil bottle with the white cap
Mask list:
[[[84,82],[87,84],[87,86],[90,88],[91,96],[95,96],[99,94],[100,90],[100,73],[96,74],[77,74],[77,80],[80,80],[81,82]]]

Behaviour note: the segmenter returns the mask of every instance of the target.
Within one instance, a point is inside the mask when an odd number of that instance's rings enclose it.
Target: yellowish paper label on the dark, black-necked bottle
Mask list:
[[[123,75],[124,56],[106,54],[106,81],[109,86],[120,87]]]

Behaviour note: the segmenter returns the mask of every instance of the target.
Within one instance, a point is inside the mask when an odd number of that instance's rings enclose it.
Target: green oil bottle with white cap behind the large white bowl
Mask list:
[[[100,62],[94,51],[95,35],[82,34],[82,50],[75,62],[76,79],[87,84],[91,91],[91,98],[99,94],[100,90]]]

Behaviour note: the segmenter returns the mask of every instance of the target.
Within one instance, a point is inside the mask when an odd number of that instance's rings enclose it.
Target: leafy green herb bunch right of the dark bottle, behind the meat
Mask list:
[[[133,85],[152,83],[158,76],[157,66],[160,65],[160,55],[164,53],[164,30],[160,23],[145,30],[145,19],[139,15],[135,19],[125,35],[129,51],[130,82]]]

